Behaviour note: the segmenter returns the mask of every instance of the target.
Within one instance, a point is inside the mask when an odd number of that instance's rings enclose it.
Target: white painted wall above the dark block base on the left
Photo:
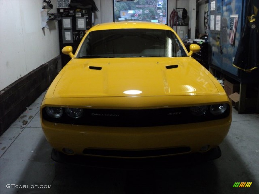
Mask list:
[[[60,54],[58,24],[42,29],[41,8],[42,0],[0,0],[0,90]]]

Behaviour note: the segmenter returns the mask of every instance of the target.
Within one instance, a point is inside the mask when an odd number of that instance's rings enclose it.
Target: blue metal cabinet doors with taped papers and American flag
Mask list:
[[[214,6],[215,4],[215,6]],[[232,64],[241,37],[244,22],[244,0],[209,1],[209,44],[210,64],[238,76],[238,69]],[[232,16],[232,17],[231,17]],[[233,18],[237,17],[236,33],[231,43]]]

